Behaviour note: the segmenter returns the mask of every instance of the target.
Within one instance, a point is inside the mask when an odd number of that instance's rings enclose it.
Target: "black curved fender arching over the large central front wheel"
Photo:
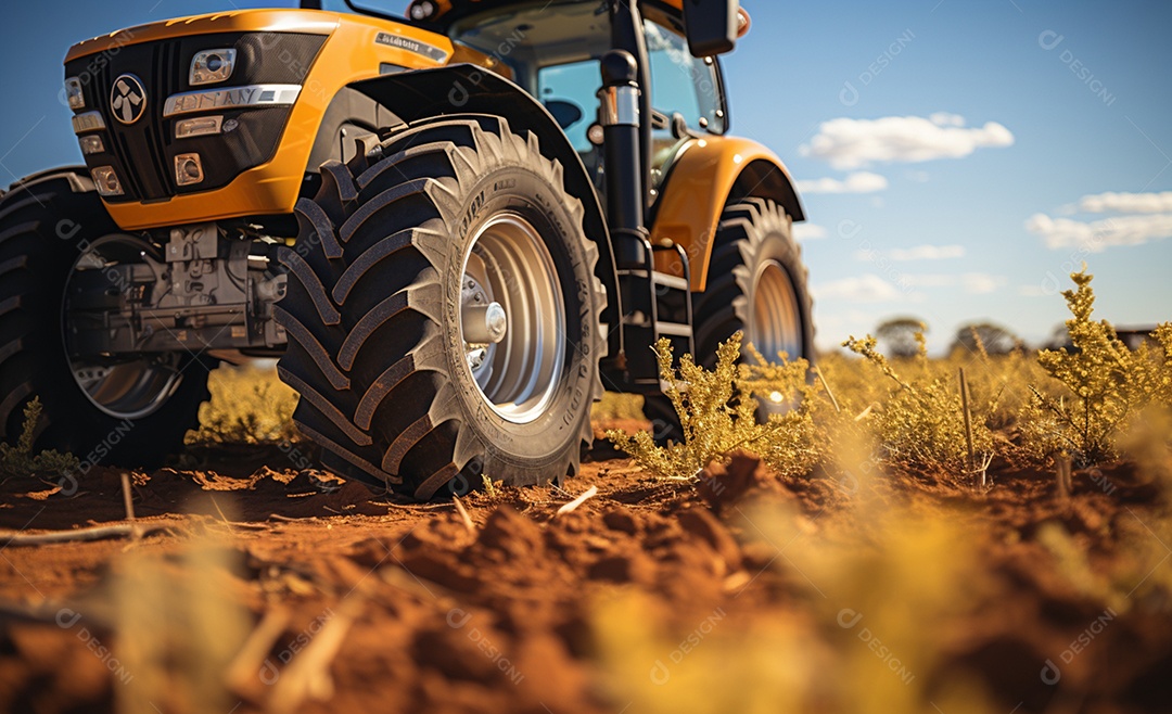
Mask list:
[[[561,163],[566,189],[582,202],[586,236],[599,249],[595,274],[607,292],[602,320],[611,326],[618,325],[622,306],[619,304],[619,277],[606,227],[606,215],[581,157],[540,102],[517,84],[475,64],[449,64],[389,74],[355,82],[349,87],[386,107],[408,124],[445,116],[479,114],[505,118],[509,127],[523,136],[532,131],[540,142],[543,152]],[[613,342],[614,339],[621,339],[621,331],[612,328],[609,349],[613,355],[621,349],[621,345]]]

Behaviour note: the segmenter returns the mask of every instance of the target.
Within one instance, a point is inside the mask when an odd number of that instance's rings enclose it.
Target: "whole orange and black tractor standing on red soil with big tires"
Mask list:
[[[309,0],[69,49],[84,165],[0,197],[0,435],[182,447],[220,362],[277,360],[341,476],[560,483],[655,354],[812,356],[781,159],[728,135],[729,0]]]

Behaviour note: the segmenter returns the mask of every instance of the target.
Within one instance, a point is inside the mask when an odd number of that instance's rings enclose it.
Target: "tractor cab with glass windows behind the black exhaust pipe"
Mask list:
[[[391,18],[387,5],[345,0],[343,7]],[[689,22],[680,0],[415,0],[407,20],[447,35],[457,52],[468,52],[477,64],[540,101],[599,191],[606,190],[600,63],[611,50],[629,53],[642,93],[638,171],[648,210],[688,144],[727,131],[728,106],[716,55],[730,50],[749,27],[737,2],[694,2],[687,13],[697,18]]]

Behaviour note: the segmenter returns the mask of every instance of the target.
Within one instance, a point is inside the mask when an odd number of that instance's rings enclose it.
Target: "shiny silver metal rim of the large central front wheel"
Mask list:
[[[483,341],[483,326],[471,322],[484,319],[485,304],[504,312],[497,342]],[[534,421],[561,380],[566,311],[553,257],[532,224],[507,212],[477,231],[464,256],[461,306],[464,365],[481,397],[510,422]]]

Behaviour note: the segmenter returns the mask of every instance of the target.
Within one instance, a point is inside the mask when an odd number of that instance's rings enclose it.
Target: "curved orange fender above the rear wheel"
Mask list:
[[[690,142],[673,162],[652,216],[652,242],[683,247],[693,291],[708,284],[713,238],[724,206],[750,196],[771,198],[792,220],[805,220],[785,164],[755,141],[704,137]]]

